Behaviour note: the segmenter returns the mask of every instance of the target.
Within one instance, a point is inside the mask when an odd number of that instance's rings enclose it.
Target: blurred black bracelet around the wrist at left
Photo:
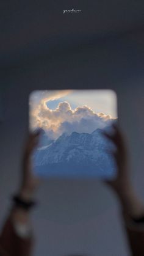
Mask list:
[[[34,201],[26,202],[25,200],[21,199],[20,196],[13,196],[13,202],[15,203],[16,207],[23,208],[24,210],[29,210],[36,205]]]

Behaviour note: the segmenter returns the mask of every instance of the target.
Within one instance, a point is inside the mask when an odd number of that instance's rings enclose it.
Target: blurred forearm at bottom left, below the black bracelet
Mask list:
[[[33,240],[29,211],[14,204],[2,229],[2,250],[9,256],[30,256]]]

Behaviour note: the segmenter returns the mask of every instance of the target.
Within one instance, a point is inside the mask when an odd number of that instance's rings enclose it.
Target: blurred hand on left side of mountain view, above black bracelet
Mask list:
[[[26,146],[24,148],[24,154],[22,159],[22,180],[20,186],[20,196],[25,200],[31,199],[35,189],[37,189],[40,180],[35,177],[32,173],[32,153],[35,147],[38,145],[38,140],[40,137],[40,131],[36,133],[29,134]]]

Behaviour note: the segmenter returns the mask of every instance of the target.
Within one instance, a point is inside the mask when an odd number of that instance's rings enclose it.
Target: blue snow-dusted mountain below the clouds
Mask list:
[[[62,134],[56,141],[38,148],[35,172],[50,177],[107,177],[115,172],[107,150],[112,144],[97,129],[93,133]]]

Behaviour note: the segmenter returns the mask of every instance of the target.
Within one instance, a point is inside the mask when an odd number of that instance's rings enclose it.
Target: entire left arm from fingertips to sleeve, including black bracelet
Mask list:
[[[15,197],[12,210],[4,224],[0,237],[0,254],[9,256],[30,256],[32,251],[32,229],[30,208],[33,193],[38,187],[39,179],[32,173],[31,156],[38,145],[40,131],[29,134],[22,158],[20,191]],[[5,255],[6,255],[5,254]]]

